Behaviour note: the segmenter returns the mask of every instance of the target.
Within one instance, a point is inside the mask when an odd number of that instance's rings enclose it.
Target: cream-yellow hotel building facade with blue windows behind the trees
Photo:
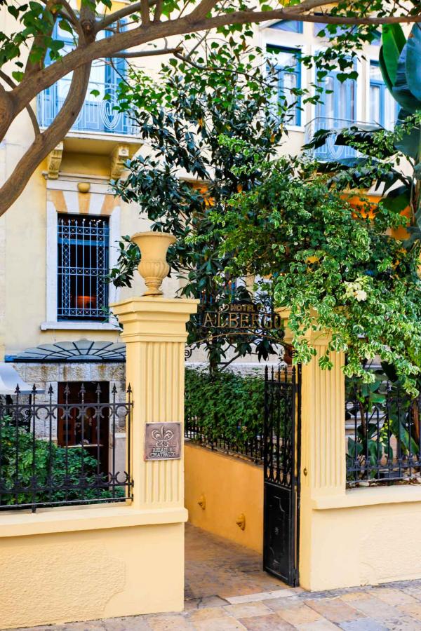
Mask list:
[[[1,11],[0,19],[1,29],[7,32],[6,10]],[[288,86],[307,88],[314,82],[314,70],[305,68],[300,61],[296,62],[296,72],[282,73],[282,68],[291,63],[291,53],[300,51],[306,55],[323,47],[318,30],[319,25],[294,22],[255,27],[255,43],[267,48],[279,67],[280,90],[287,92]],[[379,49],[377,44],[367,48],[366,60],[357,64],[356,81],[340,84],[332,74],[326,88],[332,88],[333,94],[326,97],[323,107],[305,104],[295,109],[283,152],[297,154],[314,130],[323,125],[342,128],[352,121],[369,122],[373,118],[385,126],[392,123],[392,103],[378,79]],[[159,57],[142,60],[142,66],[152,73],[160,63]],[[109,180],[121,175],[125,161],[137,151],[147,151],[141,149],[140,139],[127,117],[112,112],[107,102],[89,94],[98,88],[100,93],[111,90],[113,95],[114,79],[107,75],[103,64],[93,68],[86,103],[72,130],[39,165],[18,201],[0,219],[0,348],[6,361],[12,362],[28,348],[39,345],[79,339],[119,341],[115,320],[104,318],[97,311],[100,306],[128,297],[132,290],[115,290],[109,285],[107,297],[100,301],[94,295],[98,287],[95,291],[91,287],[91,295],[83,283],[74,283],[69,290],[70,299],[60,296],[65,292],[65,280],[60,278],[58,243],[65,238],[59,234],[60,222],[68,226],[69,216],[78,226],[82,219],[103,220],[107,227],[107,262],[103,269],[109,269],[116,262],[119,238],[147,226],[138,208],[115,199],[109,190]],[[66,88],[66,79],[62,79],[54,90],[39,96],[34,108],[41,125],[51,121]],[[5,179],[13,170],[31,139],[32,125],[23,112],[0,147],[0,177]],[[327,147],[326,156],[332,151],[338,148]],[[83,264],[78,262],[78,266],[81,274]],[[164,286],[168,295],[175,295],[179,283],[166,279]],[[133,291],[138,294],[140,289],[141,282],[136,280]],[[90,298],[96,300],[95,305]],[[40,384],[50,379],[48,371],[37,374],[34,366],[27,369],[25,362],[19,363],[20,373],[29,382]],[[51,380],[57,380],[55,371]]]

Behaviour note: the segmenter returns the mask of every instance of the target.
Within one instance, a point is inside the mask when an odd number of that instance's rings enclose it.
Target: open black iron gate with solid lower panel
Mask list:
[[[298,585],[301,369],[265,372],[264,569]]]

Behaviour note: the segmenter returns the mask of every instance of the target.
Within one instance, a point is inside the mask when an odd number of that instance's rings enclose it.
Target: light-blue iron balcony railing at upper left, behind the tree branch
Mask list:
[[[38,95],[36,111],[41,127],[48,127],[53,122],[65,102],[69,85],[70,81],[65,77]],[[91,94],[92,91],[95,95]],[[128,114],[116,111],[116,103],[117,88],[114,83],[91,81],[86,100],[72,126],[72,131],[137,135],[135,121],[131,120]]]

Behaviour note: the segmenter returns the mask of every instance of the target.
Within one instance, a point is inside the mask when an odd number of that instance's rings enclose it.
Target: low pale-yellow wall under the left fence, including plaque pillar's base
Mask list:
[[[130,506],[1,515],[0,628],[181,611],[184,524],[163,513],[154,525]]]

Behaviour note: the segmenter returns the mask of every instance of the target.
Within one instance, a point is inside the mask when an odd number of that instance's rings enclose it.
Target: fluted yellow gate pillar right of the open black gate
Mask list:
[[[288,317],[286,311],[280,313]],[[285,341],[292,341],[288,325]],[[309,332],[317,354],[302,366],[299,568],[300,585],[313,591],[341,584],[343,567],[335,562],[335,547],[347,545],[342,531],[335,530],[335,515],[319,510],[323,501],[343,497],[346,490],[345,354],[331,353],[332,369],[322,370],[319,358],[328,342],[326,332]]]

